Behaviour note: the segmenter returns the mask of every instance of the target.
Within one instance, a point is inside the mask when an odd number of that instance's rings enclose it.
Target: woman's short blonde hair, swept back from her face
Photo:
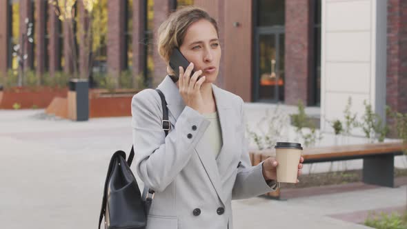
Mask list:
[[[170,17],[168,17],[168,19],[166,19],[166,21],[161,23],[159,26],[157,31],[158,53],[161,58],[166,61],[167,73],[170,75],[170,77],[178,78],[178,76],[175,76],[174,70],[172,70],[172,68],[168,65],[172,50],[181,46],[186,34],[186,30],[188,30],[189,26],[201,19],[205,19],[212,23],[219,37],[216,20],[210,17],[208,12],[197,6],[186,6],[173,12],[170,14]]]

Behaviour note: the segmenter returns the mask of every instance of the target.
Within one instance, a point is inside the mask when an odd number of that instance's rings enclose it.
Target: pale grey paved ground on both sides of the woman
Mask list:
[[[130,117],[72,122],[0,110],[3,228],[95,228],[112,152],[130,150]],[[368,228],[339,215],[406,204],[406,186],[275,201],[232,201],[236,229]],[[342,217],[344,219],[346,217]]]

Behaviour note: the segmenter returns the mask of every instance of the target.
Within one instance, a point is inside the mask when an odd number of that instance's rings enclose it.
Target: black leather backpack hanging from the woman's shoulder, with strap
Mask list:
[[[161,97],[163,130],[167,136],[168,130],[170,130],[167,103],[164,94],[160,90],[156,90]],[[133,157],[135,157],[135,151],[132,146],[127,161],[126,152],[122,150],[117,150],[110,159],[99,216],[99,229],[103,217],[106,229],[146,228],[147,216],[155,192],[144,187],[143,195],[141,195],[139,185],[130,170]]]

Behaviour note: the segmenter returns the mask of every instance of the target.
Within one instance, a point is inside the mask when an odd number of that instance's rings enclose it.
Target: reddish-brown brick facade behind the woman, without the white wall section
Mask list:
[[[292,105],[302,100],[308,106],[319,104],[320,0],[155,0],[153,5],[150,1],[133,0],[131,5],[128,0],[107,1],[108,72],[117,75],[131,66],[132,74],[152,77],[150,86],[157,85],[166,75],[166,64],[156,51],[155,31],[177,4],[193,2],[208,10],[219,23],[223,51],[219,86],[239,94],[245,101]],[[58,70],[72,72],[68,64],[72,58],[72,48],[66,39],[68,28],[60,23],[45,0],[0,1],[0,71],[13,67],[11,5],[16,2],[19,2],[20,34],[26,17],[34,21],[35,42],[34,47],[27,47],[29,58],[25,66],[34,68],[39,75],[43,72],[52,75]],[[152,25],[147,16],[151,9]],[[83,12],[81,4],[77,10]],[[132,28],[126,27],[129,17]],[[83,18],[79,21],[86,23]],[[388,0],[387,23],[386,99],[395,110],[407,112],[406,1]],[[126,36],[132,38],[132,43],[128,43]],[[152,40],[146,42],[148,36]],[[80,63],[84,62],[83,58],[79,57]],[[152,65],[153,70],[149,70]],[[83,66],[79,64],[79,68]]]

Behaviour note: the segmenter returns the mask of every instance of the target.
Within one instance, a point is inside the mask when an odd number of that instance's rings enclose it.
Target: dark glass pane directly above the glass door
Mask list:
[[[257,26],[284,26],[285,0],[258,0]]]

